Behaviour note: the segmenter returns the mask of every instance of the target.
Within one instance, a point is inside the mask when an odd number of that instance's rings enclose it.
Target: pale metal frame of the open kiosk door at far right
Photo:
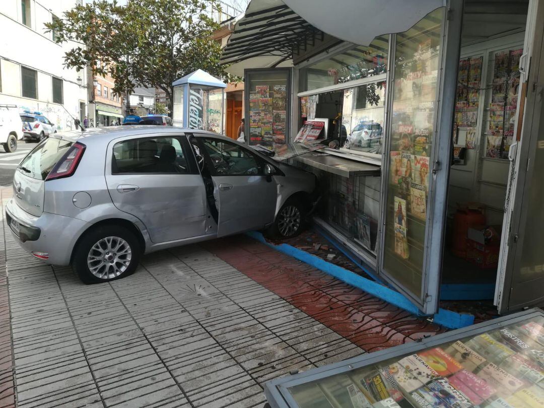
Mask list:
[[[511,311],[509,302],[513,289],[512,281],[515,271],[520,269],[523,242],[526,238],[522,230],[527,220],[527,208],[523,206],[526,182],[533,177],[536,134],[544,126],[544,121],[541,123],[544,110],[544,104],[542,103],[544,85],[538,83],[539,79],[541,81],[541,78],[544,77],[544,28],[539,24],[544,19],[543,0],[530,0],[527,18],[523,59],[520,61],[522,75],[520,84],[522,86],[518,97],[518,112],[522,108],[522,100],[524,100],[524,112],[523,118],[518,116],[516,119],[514,129],[515,134],[520,134],[521,138],[520,140],[516,138],[515,157],[511,162],[512,167],[508,180],[510,191],[507,190],[506,193],[508,206],[505,205],[506,214],[494,298],[494,304],[497,306],[499,313]],[[523,92],[525,92],[524,95]],[[521,133],[518,132],[520,126]],[[529,302],[520,305],[519,308],[527,304]]]

